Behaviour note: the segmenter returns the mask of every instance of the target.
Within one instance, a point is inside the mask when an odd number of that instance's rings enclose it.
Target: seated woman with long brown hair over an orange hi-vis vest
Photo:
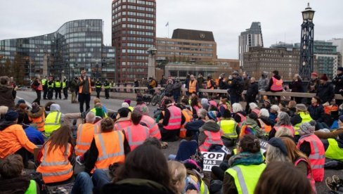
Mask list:
[[[75,164],[73,153],[70,128],[64,125],[53,131],[41,148],[40,158],[37,158],[40,163],[37,172],[43,176],[44,183],[59,185],[70,181]]]

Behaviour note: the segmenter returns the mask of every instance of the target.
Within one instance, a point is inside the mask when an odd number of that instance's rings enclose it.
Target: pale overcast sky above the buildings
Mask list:
[[[310,2],[316,11],[314,37],[343,38],[343,0],[157,0],[157,37],[174,29],[214,33],[219,58],[238,58],[238,35],[261,22],[264,46],[277,41],[299,42],[301,11]],[[111,44],[110,0],[1,0],[0,39],[55,32],[65,22],[102,19],[104,44]]]

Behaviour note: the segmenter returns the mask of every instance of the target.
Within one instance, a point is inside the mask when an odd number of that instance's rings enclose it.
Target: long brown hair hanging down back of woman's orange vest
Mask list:
[[[72,143],[72,130],[70,130],[69,126],[62,125],[60,129],[53,131],[53,134],[51,134],[46,143],[48,142],[50,142],[48,152],[57,148],[62,149],[63,147],[67,149],[68,143]]]

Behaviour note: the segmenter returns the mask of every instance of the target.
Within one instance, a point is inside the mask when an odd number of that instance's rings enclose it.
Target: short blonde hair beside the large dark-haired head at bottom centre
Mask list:
[[[184,181],[183,179],[186,179],[186,167],[181,162],[169,160],[168,169],[171,177],[171,183],[173,183],[174,186],[176,186],[177,182],[181,182]]]

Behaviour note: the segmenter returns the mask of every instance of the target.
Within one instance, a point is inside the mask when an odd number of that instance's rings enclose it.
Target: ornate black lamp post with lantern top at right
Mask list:
[[[313,72],[313,15],[314,12],[307,4],[307,7],[302,11],[302,36],[300,41],[300,64],[299,75],[303,81],[311,79],[311,72]]]

